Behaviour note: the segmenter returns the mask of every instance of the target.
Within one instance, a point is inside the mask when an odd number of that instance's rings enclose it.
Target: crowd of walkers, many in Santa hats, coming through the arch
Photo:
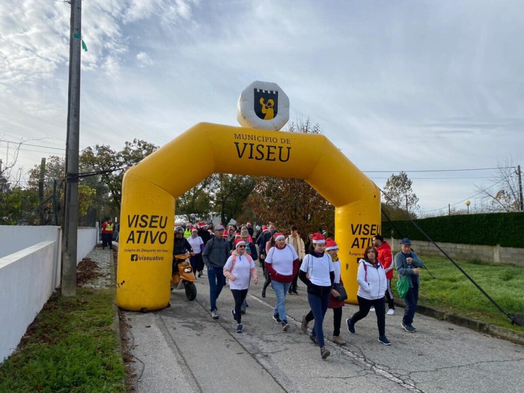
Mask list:
[[[275,225],[264,225],[256,239],[253,239],[253,228],[250,223],[237,229],[223,225],[210,228],[208,224],[199,223],[190,229],[186,239],[182,227],[177,227],[175,242],[189,246],[191,264],[195,271],[202,275],[203,266],[207,267],[210,283],[211,316],[219,318],[216,300],[219,298],[226,279],[233,294],[234,309],[231,310],[236,323],[236,332],[243,332],[242,315],[246,312],[246,297],[250,281],[258,283],[255,260],[258,258],[263,268],[265,280],[261,295],[266,297],[266,290],[271,285],[275,291],[276,303],[272,318],[281,325],[283,331],[289,329],[286,312],[287,294],[298,294],[297,280],[307,287],[310,312],[303,315],[301,328],[308,332],[308,325],[314,321],[310,339],[320,347],[321,358],[325,359],[330,351],[325,346],[323,321],[326,311],[333,310],[333,335],[331,341],[339,345],[346,342],[341,337],[342,307],[344,307],[345,289],[341,279],[341,260],[334,239],[318,233],[308,235],[304,243],[296,226],[290,234],[278,232]],[[203,235],[205,233],[205,235]],[[255,244],[258,246],[258,253]],[[194,260],[194,262],[193,262]],[[406,276],[409,282],[406,309],[402,319],[402,328],[413,333],[412,325],[417,308],[420,268],[422,261],[411,250],[411,242],[404,238],[401,241],[401,252],[393,258],[391,247],[380,235],[373,237],[373,246],[367,247],[364,255],[358,260],[358,311],[346,320],[347,330],[356,334],[355,324],[365,318],[369,311],[377,315],[378,341],[390,345],[386,336],[386,314],[395,314],[395,303],[391,292],[393,268],[398,272],[399,280]],[[388,311],[386,312],[386,301]]]

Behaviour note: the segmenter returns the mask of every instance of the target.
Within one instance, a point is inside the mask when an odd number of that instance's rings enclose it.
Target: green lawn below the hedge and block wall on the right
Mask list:
[[[424,265],[435,276],[422,269],[419,303],[468,316],[479,321],[524,333],[524,327],[511,325],[501,313],[459,269],[440,256],[420,255]],[[477,260],[454,259],[500,307],[509,314],[524,313],[524,268],[512,265],[488,264]],[[391,287],[396,294],[396,278]]]

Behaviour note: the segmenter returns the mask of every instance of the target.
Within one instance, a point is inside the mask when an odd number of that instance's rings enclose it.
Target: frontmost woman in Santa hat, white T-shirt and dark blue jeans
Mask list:
[[[312,246],[313,250],[302,260],[299,278],[308,286],[309,307],[315,319],[313,336],[320,346],[320,356],[325,359],[331,353],[325,347],[322,324],[335,280],[335,266],[331,256],[324,253],[325,239],[322,234],[313,234]]]

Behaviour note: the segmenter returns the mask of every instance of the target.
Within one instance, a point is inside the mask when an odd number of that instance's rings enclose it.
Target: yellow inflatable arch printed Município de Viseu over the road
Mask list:
[[[205,159],[195,160],[197,152]],[[356,261],[380,233],[376,185],[323,135],[199,123],[124,176],[119,307],[138,311],[167,306],[175,200],[215,172],[304,179],[333,204],[341,276],[347,301],[356,303]]]

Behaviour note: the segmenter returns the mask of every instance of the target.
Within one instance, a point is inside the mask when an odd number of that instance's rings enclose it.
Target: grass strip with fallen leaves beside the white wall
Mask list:
[[[113,289],[54,294],[0,366],[0,392],[125,392]]]

